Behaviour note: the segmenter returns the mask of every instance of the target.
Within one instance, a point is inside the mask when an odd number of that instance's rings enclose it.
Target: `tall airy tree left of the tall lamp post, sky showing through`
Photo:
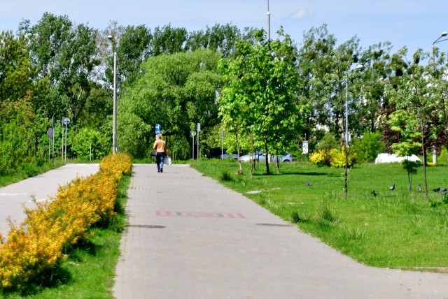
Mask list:
[[[90,77],[99,65],[97,30],[84,24],[75,26],[67,16],[51,13],[44,13],[32,27],[29,21],[22,22],[20,29],[29,37],[38,78],[46,78],[55,87],[38,100],[43,111],[48,118],[69,116],[76,124],[91,91]]]

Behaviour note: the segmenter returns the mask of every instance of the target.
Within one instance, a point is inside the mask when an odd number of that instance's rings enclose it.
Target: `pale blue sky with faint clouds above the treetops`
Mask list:
[[[267,0],[0,0],[0,31],[18,29],[22,19],[36,24],[43,13],[67,15],[70,20],[105,29],[109,22],[146,24],[153,29],[172,24],[188,31],[214,24],[266,27]],[[367,48],[390,41],[395,52],[407,46],[429,51],[442,31],[448,31],[446,0],[270,0],[271,36],[283,26],[300,45],[304,31],[328,24],[338,43],[353,36]],[[448,41],[437,43],[447,52]]]

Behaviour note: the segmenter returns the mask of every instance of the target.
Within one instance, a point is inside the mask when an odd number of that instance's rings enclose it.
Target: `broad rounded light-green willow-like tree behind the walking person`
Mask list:
[[[158,123],[169,138],[170,152],[179,159],[188,158],[192,128],[198,122],[204,131],[218,124],[219,59],[220,55],[210,50],[148,58],[142,64],[143,73],[123,89],[118,103],[120,150],[146,156]]]

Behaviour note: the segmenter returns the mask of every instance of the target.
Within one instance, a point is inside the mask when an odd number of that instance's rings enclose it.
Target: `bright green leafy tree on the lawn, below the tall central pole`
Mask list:
[[[226,126],[235,133],[247,130],[267,155],[288,148],[300,128],[297,50],[290,36],[282,30],[279,35],[283,41],[266,41],[264,31],[255,31],[255,43],[239,41],[235,55],[220,65],[225,87],[218,103]]]

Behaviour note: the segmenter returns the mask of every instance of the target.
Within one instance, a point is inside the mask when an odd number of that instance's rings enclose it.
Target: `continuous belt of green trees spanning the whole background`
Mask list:
[[[222,143],[281,154],[303,140],[313,152],[325,133],[339,148],[345,114],[358,162],[381,151],[426,161],[428,149],[448,145],[447,55],[437,48],[411,57],[387,41],[363,49],[356,36],[338,43],[326,24],[297,45],[279,33],[267,41],[231,24],[188,32],[116,22],[99,30],[52,13],[24,20],[16,34],[0,34],[0,173],[50,158],[53,143],[59,156],[62,117],[71,119],[69,156],[111,152],[114,52],[118,149],[137,158],[148,155],[155,123],[175,159],[191,156],[197,123],[199,156]]]

